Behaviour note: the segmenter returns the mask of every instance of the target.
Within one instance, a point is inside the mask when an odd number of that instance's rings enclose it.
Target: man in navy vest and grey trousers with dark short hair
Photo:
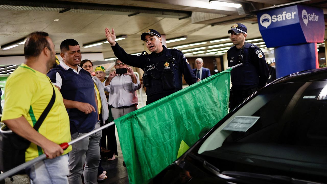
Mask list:
[[[60,90],[70,120],[72,140],[100,128],[97,121],[96,96],[91,74],[78,66],[81,51],[76,40],[67,39],[60,44],[63,61],[47,74],[51,82]],[[97,183],[97,170],[100,162],[99,142],[101,131],[92,134],[72,145],[69,153],[69,184]],[[85,163],[84,171],[83,165]]]

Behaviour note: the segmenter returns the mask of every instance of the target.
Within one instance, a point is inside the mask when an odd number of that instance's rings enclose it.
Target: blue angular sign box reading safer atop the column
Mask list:
[[[294,5],[257,13],[267,47],[322,43],[325,33],[323,10]]]

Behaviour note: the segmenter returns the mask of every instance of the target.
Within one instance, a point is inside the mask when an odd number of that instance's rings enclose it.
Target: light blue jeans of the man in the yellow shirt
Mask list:
[[[68,184],[68,155],[44,159],[26,169],[31,184]]]

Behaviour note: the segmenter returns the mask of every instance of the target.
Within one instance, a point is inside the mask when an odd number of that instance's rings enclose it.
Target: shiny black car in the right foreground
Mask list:
[[[150,183],[327,183],[326,115],[327,68],[277,79]]]

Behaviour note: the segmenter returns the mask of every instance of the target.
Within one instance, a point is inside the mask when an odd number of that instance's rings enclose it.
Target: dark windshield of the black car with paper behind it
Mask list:
[[[326,95],[327,81],[276,83],[263,88],[226,121],[219,122],[198,154],[212,163],[219,159],[216,167],[222,170],[245,164],[325,177]],[[244,122],[248,129],[238,129]],[[226,130],[228,126],[232,130]]]

